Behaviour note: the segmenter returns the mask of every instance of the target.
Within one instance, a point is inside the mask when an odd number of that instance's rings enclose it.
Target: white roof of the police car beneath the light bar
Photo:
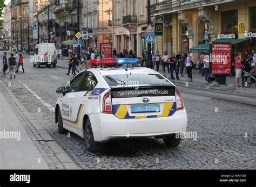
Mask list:
[[[117,74],[127,74],[127,73],[133,73],[133,74],[152,74],[157,73],[157,71],[145,68],[145,67],[134,67],[134,68],[128,68],[127,71],[125,70],[126,67],[119,67],[119,68],[90,68],[98,71],[99,74],[102,76],[105,75],[117,75]],[[157,73],[158,74],[158,73]]]

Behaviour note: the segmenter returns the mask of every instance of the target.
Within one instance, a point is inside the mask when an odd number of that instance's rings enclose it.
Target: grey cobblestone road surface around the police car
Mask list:
[[[2,56],[0,56],[2,57]],[[58,134],[52,107],[57,87],[71,76],[66,69],[33,68],[26,56],[25,74],[16,80],[0,75],[5,85],[82,169],[255,169],[255,106],[236,103],[241,97],[227,92],[178,85],[188,114],[187,131],[197,140],[183,139],[167,148],[153,138],[114,140],[99,153],[86,150],[80,136]],[[219,97],[221,96],[221,97]],[[226,98],[234,102],[226,101]],[[50,153],[46,153],[50,154]]]

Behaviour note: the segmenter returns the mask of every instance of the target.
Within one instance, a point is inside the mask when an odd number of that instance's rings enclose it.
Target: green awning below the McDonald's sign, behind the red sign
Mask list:
[[[212,43],[231,43],[232,45],[237,45],[241,42],[246,42],[249,39],[245,38],[245,39],[218,39],[218,40],[214,40],[212,41]],[[195,46],[195,47],[191,47],[190,48],[190,53],[210,53],[210,43],[207,44],[202,44],[199,46]]]

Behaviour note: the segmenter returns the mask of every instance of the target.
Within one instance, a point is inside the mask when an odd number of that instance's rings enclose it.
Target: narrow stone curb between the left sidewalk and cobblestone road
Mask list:
[[[14,94],[11,92],[11,90],[9,90],[6,87],[6,85],[3,83],[2,80],[0,80],[0,85],[2,85],[2,87],[7,92],[7,94],[11,97],[11,99],[14,100],[14,102],[17,104],[18,108],[20,110],[22,110],[23,115],[30,121],[30,123],[32,122],[31,123],[32,126],[37,130],[37,132],[38,132],[39,136],[41,136],[42,140],[45,141],[45,143],[47,143],[47,145],[52,149],[52,151],[56,155],[56,157],[59,159],[58,153],[62,153],[63,154],[62,157],[65,157],[65,160],[69,161],[69,162],[62,163],[63,166],[65,166],[65,169],[79,169],[77,164],[74,161],[72,161],[70,156],[65,153],[64,149],[61,146],[59,146],[58,143],[52,138],[52,136],[43,128],[41,123],[39,123],[39,121],[37,121],[37,119],[35,119],[28,110],[26,110],[24,105],[14,96]],[[29,134],[29,132],[27,132],[27,133]],[[31,136],[30,136],[30,138],[32,139]],[[32,141],[33,141],[33,139],[32,139]],[[51,143],[49,143],[49,142],[51,142]],[[40,150],[39,150],[39,153],[41,153]],[[59,160],[62,162],[63,159],[59,159]]]

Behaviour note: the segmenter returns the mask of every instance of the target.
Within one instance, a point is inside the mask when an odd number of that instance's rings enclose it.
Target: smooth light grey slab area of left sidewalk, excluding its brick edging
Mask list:
[[[2,89],[0,98],[0,169],[49,169],[21,121],[11,109]],[[12,139],[7,138],[11,132],[16,132],[16,135],[12,136]]]

